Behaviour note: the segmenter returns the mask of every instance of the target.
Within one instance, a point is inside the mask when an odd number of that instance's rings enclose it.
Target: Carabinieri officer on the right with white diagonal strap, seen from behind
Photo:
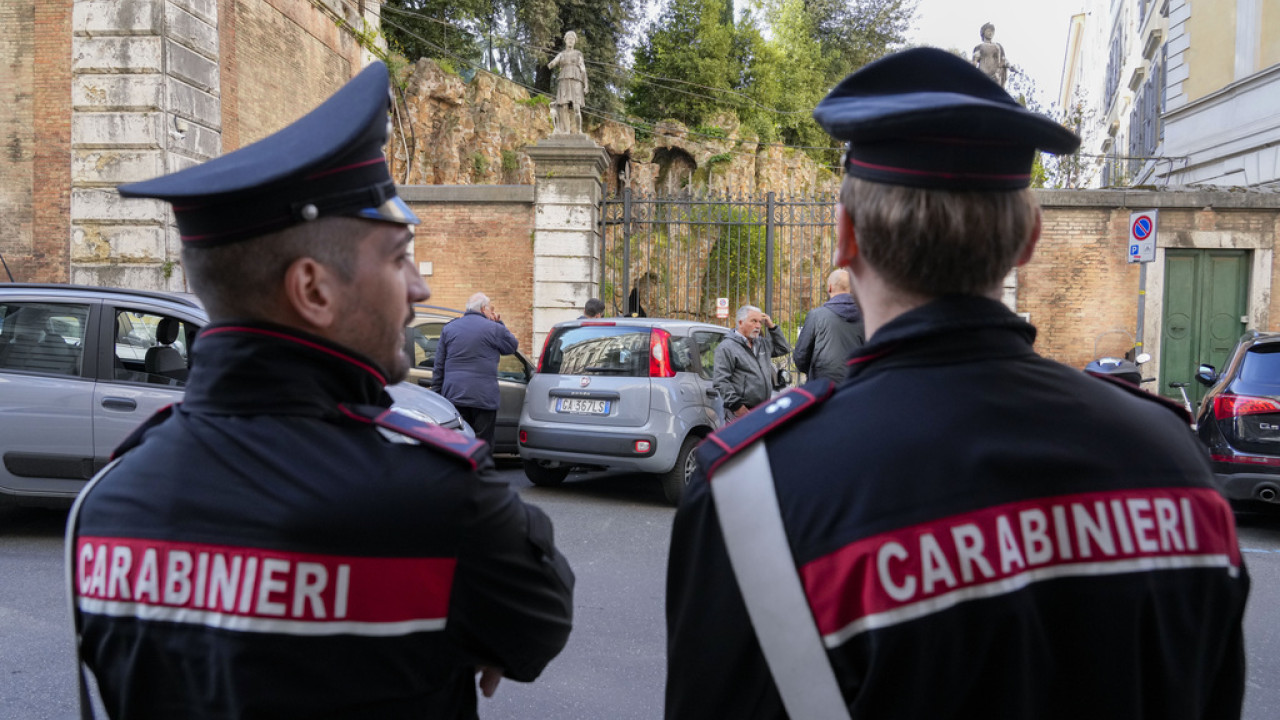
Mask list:
[[[1036,150],[1079,138],[927,47],[814,118],[849,141],[869,340],[699,446],[667,719],[1238,717],[1248,573],[1187,414],[1041,357],[1000,302]]]

